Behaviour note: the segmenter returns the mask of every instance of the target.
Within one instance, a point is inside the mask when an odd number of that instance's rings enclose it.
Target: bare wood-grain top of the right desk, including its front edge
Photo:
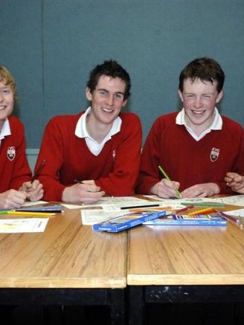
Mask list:
[[[244,284],[244,231],[229,222],[137,227],[128,234],[127,284]]]

